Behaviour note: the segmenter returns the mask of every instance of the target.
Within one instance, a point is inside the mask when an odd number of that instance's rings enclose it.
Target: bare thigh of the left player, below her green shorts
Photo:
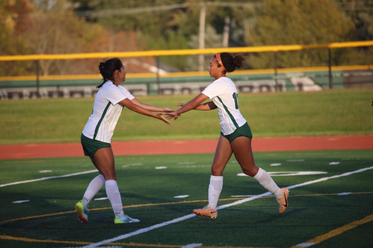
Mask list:
[[[93,155],[92,162],[105,180],[116,180],[114,154],[111,147],[98,149]]]

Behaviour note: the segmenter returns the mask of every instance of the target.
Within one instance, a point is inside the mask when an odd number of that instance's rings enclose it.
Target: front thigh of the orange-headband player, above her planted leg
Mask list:
[[[214,176],[223,175],[223,170],[232,156],[232,148],[228,139],[220,135],[217,142],[214,161],[211,166],[211,174]]]

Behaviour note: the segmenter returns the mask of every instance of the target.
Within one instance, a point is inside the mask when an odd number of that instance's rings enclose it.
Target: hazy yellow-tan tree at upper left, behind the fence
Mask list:
[[[48,2],[40,1],[39,6],[35,6],[35,17],[22,33],[29,49],[34,54],[90,52],[91,43],[103,35],[103,28],[76,17],[68,1],[55,1],[45,9],[42,3]],[[91,73],[81,60],[41,60],[39,63],[41,75]]]

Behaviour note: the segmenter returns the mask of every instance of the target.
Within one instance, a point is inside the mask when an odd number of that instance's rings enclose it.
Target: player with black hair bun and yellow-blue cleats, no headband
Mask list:
[[[83,129],[81,143],[84,155],[90,157],[100,174],[93,178],[88,185],[82,200],[75,204],[75,210],[78,213],[78,219],[87,223],[88,204],[105,185],[106,194],[115,215],[114,223],[138,223],[140,220],[131,218],[123,212],[110,141],[124,107],[141,115],[162,120],[169,125],[171,123],[164,118],[162,112],[174,110],[142,103],[132,96],[125,87],[121,86],[120,83],[126,80],[127,72],[119,58],[111,58],[105,62],[100,62],[98,68],[103,77],[103,83],[97,86],[99,90],[94,100],[92,114]]]

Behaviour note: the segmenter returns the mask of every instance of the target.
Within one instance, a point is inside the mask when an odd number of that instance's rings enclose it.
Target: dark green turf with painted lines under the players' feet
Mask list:
[[[274,197],[256,199],[266,190],[253,178],[238,176],[242,171],[234,158],[224,171],[218,203],[228,206],[212,220],[191,213],[207,204],[213,154],[118,156],[117,181],[125,213],[141,220],[123,225],[113,223],[107,199],[92,200],[88,224],[80,223],[72,211],[97,175],[90,172],[94,167],[88,158],[0,160],[0,246],[292,247],[314,242],[313,247],[371,247],[372,150],[254,156],[258,166],[278,175],[273,179],[280,187],[291,188],[283,215]],[[87,173],[60,177],[82,172]],[[24,182],[38,178],[46,180]],[[183,195],[187,197],[175,198]],[[96,195],[101,197],[106,197],[104,189]],[[237,204],[241,199],[246,200]],[[28,202],[13,203],[23,200]],[[112,239],[110,244],[99,245],[107,239]]]

